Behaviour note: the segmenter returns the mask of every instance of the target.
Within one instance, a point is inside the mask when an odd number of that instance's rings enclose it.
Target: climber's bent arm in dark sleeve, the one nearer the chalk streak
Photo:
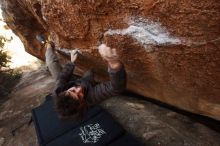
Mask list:
[[[88,104],[97,104],[109,97],[119,95],[126,88],[126,72],[124,65],[119,60],[116,49],[102,44],[98,47],[99,53],[108,62],[110,81],[100,83],[93,87],[88,95]]]

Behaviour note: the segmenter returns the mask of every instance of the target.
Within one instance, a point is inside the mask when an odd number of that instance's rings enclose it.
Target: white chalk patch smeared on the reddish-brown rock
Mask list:
[[[181,40],[172,37],[165,27],[159,22],[153,22],[143,18],[131,18],[126,21],[129,25],[125,29],[109,29],[105,35],[128,35],[141,44],[147,52],[151,52],[152,46],[181,44]]]

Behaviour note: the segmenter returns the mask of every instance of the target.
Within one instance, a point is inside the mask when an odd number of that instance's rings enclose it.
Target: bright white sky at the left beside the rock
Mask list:
[[[21,40],[11,31],[6,30],[4,26],[6,25],[2,21],[2,10],[0,9],[0,35],[10,39],[13,38],[11,42],[5,45],[5,50],[11,56],[11,68],[19,68],[21,66],[29,66],[37,61],[37,58],[25,52],[24,45]]]

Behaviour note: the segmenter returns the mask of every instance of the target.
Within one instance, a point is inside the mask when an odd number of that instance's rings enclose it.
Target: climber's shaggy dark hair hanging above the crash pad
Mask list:
[[[65,92],[61,92],[55,99],[55,108],[59,118],[63,120],[80,121],[86,110],[85,100],[76,100]]]

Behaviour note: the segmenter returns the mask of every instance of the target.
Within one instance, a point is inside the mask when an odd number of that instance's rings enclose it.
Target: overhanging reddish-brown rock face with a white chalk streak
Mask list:
[[[80,48],[79,69],[106,77],[95,49],[117,49],[128,89],[220,120],[220,3],[155,0],[1,0],[7,24],[26,51],[44,59],[36,34]]]

